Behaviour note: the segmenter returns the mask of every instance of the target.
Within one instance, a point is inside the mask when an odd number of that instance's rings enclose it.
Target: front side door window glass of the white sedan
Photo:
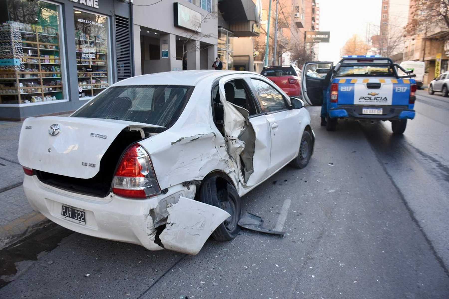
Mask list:
[[[272,112],[286,108],[284,97],[271,85],[258,79],[251,79],[251,83],[259,96],[263,112]]]

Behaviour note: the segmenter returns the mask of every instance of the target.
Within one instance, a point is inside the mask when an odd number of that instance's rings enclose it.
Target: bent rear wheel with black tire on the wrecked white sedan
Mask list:
[[[240,230],[237,223],[242,215],[242,205],[240,196],[238,196],[233,185],[226,182],[224,186],[217,189],[217,179],[224,180],[220,176],[212,176],[203,182],[200,190],[200,201],[219,207],[231,214],[211,234],[214,240],[224,242],[235,238]]]

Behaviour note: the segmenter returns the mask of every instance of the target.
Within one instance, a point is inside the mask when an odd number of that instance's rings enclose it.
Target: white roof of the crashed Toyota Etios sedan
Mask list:
[[[179,70],[148,75],[140,75],[124,79],[113,86],[128,85],[184,85],[196,86],[203,79],[217,79],[226,75],[252,74],[261,76],[254,72],[238,70]]]

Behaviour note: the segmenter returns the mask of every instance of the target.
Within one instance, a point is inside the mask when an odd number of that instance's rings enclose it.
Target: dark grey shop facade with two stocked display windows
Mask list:
[[[130,15],[115,0],[0,1],[0,119],[67,113],[132,76]]]

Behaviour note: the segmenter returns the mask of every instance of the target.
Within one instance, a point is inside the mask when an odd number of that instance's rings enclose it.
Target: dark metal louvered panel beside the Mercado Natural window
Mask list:
[[[131,32],[128,18],[115,16],[117,80],[132,77]]]

